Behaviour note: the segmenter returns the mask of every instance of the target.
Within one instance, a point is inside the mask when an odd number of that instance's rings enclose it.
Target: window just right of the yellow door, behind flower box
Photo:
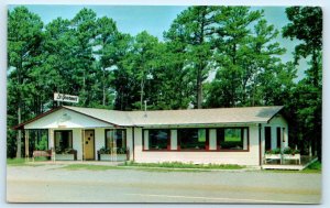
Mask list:
[[[127,131],[124,129],[106,130],[106,149],[127,147]]]

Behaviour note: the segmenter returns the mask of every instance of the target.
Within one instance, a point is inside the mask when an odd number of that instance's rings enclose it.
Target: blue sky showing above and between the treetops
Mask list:
[[[16,6],[9,6],[12,10]],[[136,35],[142,31],[157,36],[163,41],[163,32],[167,31],[176,17],[187,9],[185,6],[58,6],[58,4],[29,4],[25,6],[31,12],[41,17],[45,24],[52,20],[62,17],[63,19],[73,19],[82,8],[92,9],[98,18],[109,17],[117,22],[119,31]],[[252,7],[252,10],[264,10],[264,18],[268,23],[282,31],[282,28],[289,21],[285,14],[285,7]],[[297,40],[290,41],[278,35],[277,41],[287,52],[282,56],[283,63],[293,61],[293,52]],[[307,68],[306,61],[299,63],[297,79],[304,77],[304,70]],[[212,77],[211,75],[210,77]]]

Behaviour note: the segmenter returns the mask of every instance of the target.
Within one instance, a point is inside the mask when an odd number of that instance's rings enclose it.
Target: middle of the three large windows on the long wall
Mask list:
[[[205,150],[206,129],[178,129],[180,150]]]

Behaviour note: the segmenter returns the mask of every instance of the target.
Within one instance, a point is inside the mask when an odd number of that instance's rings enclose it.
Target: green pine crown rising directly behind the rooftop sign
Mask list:
[[[72,75],[75,74],[76,57],[74,56],[76,39],[74,30],[70,29],[70,21],[57,18],[45,26],[45,40],[43,42],[43,64],[35,72],[34,77],[41,80],[38,94],[45,95],[45,102],[57,106],[53,100],[54,92],[75,92],[75,81]],[[50,79],[50,77],[52,77]]]

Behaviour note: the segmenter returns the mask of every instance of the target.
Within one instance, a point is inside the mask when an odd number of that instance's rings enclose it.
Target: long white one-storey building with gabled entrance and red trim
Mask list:
[[[101,160],[119,160],[129,150],[121,160],[257,166],[265,150],[288,145],[282,108],[117,111],[63,106],[14,129],[47,130],[53,160],[75,160],[65,154],[72,149],[76,160],[100,160],[100,150],[108,153]]]

